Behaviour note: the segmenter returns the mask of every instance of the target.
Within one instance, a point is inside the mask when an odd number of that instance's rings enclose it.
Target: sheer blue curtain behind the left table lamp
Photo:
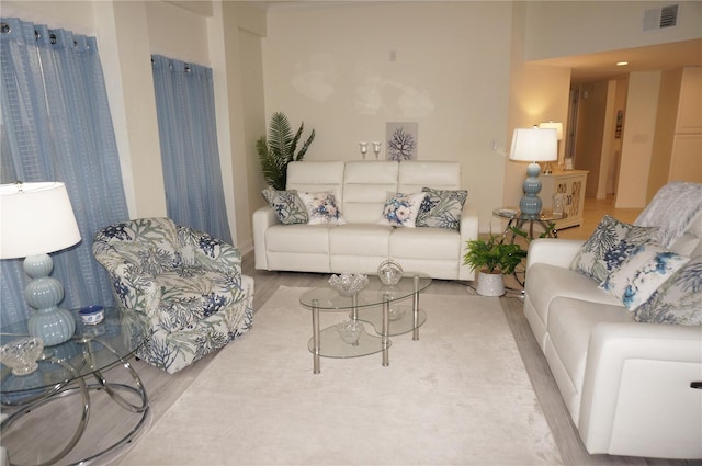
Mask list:
[[[63,307],[113,303],[93,259],[94,232],[128,219],[120,159],[94,37],[0,19],[0,182],[63,181],[81,242],[54,253]],[[21,260],[3,260],[0,319],[29,318]]]

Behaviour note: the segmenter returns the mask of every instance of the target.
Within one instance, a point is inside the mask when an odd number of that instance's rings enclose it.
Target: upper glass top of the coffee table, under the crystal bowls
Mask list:
[[[416,284],[415,284],[416,282]],[[431,285],[431,276],[418,272],[405,272],[397,285],[384,285],[377,276],[370,275],[369,284],[359,292],[356,307],[370,307],[383,304],[384,296],[389,302],[405,299],[415,293],[421,293]],[[299,303],[305,307],[319,310],[349,310],[353,308],[351,296],[342,296],[330,285],[310,289],[302,295]]]

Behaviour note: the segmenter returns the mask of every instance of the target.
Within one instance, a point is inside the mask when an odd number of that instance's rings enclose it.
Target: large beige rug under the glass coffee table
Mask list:
[[[389,366],[322,357],[315,375],[304,291],[278,289],[121,464],[561,464],[497,298],[422,295]]]

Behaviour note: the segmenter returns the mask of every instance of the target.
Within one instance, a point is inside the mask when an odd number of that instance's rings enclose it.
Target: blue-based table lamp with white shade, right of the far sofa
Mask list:
[[[557,139],[555,128],[517,128],[512,136],[512,150],[510,160],[531,162],[526,168],[529,175],[524,180],[524,195],[519,202],[519,209],[528,216],[539,216],[543,203],[539,197],[541,191],[541,167],[537,162],[552,162],[557,160]]]

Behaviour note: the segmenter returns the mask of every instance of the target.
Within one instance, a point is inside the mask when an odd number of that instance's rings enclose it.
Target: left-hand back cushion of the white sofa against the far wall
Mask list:
[[[286,190],[298,193],[333,193],[337,205],[342,202],[343,166],[341,161],[290,162],[287,164]]]

